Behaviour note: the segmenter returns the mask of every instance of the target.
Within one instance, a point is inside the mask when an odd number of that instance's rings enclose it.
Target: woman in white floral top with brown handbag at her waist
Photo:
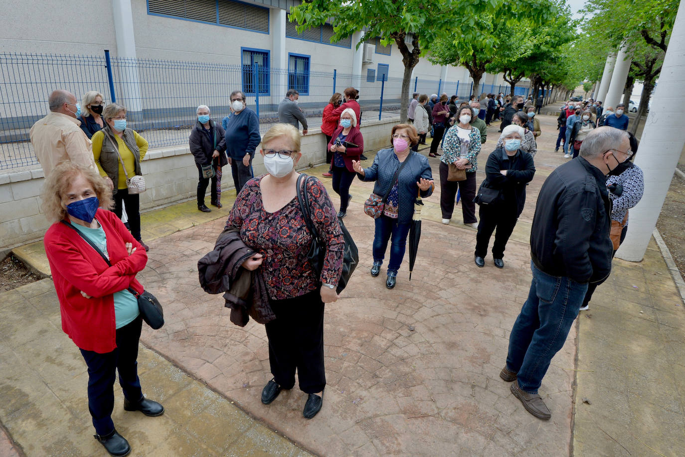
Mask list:
[[[447,131],[443,156],[440,158],[440,209],[443,211],[443,224],[449,224],[454,211],[455,198],[459,190],[462,199],[464,225],[478,228],[475,218],[475,171],[480,152],[480,130],[471,125],[473,112],[469,106],[459,109],[459,123]],[[447,181],[449,164],[456,164],[466,170],[466,180]]]

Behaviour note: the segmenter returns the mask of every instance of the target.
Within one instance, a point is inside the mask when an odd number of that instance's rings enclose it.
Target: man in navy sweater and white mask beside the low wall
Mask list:
[[[251,180],[252,159],[262,141],[259,133],[259,117],[256,112],[245,106],[245,94],[240,90],[231,93],[231,120],[226,125],[226,152],[228,163],[233,172],[236,193]]]

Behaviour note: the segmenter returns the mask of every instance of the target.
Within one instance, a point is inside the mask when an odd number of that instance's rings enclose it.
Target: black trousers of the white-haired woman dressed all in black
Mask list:
[[[493,258],[503,258],[504,248],[507,241],[514,232],[516,221],[516,206],[511,211],[505,205],[481,205],[478,210],[480,221],[478,222],[478,233],[475,236],[475,255],[485,257],[488,252],[490,236],[495,232],[495,244],[493,244]],[[497,230],[497,231],[495,231]]]

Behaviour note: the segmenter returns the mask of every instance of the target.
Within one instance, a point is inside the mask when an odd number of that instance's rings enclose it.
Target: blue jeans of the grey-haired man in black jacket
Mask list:
[[[533,281],[509,336],[507,368],[516,373],[521,390],[537,393],[549,362],[569,336],[588,284],[548,275],[533,262],[530,269]]]

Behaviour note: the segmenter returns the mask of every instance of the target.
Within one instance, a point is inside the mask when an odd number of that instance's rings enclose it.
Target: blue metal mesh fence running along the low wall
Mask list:
[[[108,62],[110,66],[108,69]],[[108,76],[111,71],[111,77]],[[334,92],[359,90],[362,121],[397,113],[402,79],[333,72],[294,72],[208,62],[178,62],[111,58],[108,55],[0,53],[0,170],[37,164],[29,129],[48,113],[47,98],[55,89],[73,92],[77,99],[89,90],[127,108],[127,120],[150,147],[185,145],[195,125],[195,110],[207,105],[221,122],[230,114],[230,95],[241,90],[247,106],[260,117],[266,132],[278,122],[278,104],[289,88],[299,91],[299,107],[310,129],[321,125],[321,113]],[[509,86],[481,86],[484,92],[508,92]],[[471,82],[414,78],[410,92],[447,92],[468,99]],[[516,93],[528,89],[517,87]]]

